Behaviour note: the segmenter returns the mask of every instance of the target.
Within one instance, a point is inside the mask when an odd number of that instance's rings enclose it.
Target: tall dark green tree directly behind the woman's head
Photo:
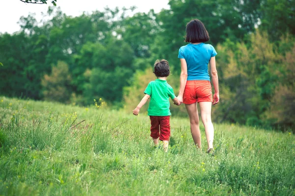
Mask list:
[[[226,39],[241,41],[257,24],[257,1],[170,0],[170,9],[161,11],[157,17],[162,31],[156,39],[153,53],[157,58],[168,59],[171,65],[179,65],[178,49],[186,44],[183,42],[185,25],[196,18],[206,26],[209,43],[214,46]],[[179,71],[180,66],[176,66],[176,70]]]

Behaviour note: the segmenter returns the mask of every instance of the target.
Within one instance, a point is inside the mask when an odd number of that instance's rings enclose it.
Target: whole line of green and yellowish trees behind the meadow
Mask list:
[[[156,59],[172,67],[185,25],[207,27],[216,56],[221,102],[217,122],[294,127],[295,1],[170,0],[159,13],[135,7],[67,16],[50,7],[37,22],[23,16],[21,30],[0,34],[0,94],[79,105],[103,98],[131,109],[142,96]],[[185,115],[183,108],[172,108]]]

